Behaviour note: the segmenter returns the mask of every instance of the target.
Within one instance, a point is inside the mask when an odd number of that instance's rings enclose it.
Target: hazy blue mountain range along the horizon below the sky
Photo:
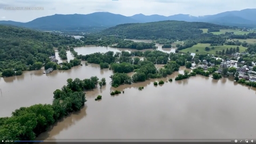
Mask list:
[[[126,17],[121,14],[109,12],[95,12],[91,14],[54,14],[37,18],[29,22],[0,21],[0,24],[28,27],[41,30],[67,30],[90,31],[92,29],[106,29],[124,23],[145,23],[165,20],[177,20],[188,22],[210,22],[218,25],[256,27],[256,9],[241,11],[228,11],[214,15],[194,17],[189,14],[175,14],[165,17],[163,15],[135,14]]]

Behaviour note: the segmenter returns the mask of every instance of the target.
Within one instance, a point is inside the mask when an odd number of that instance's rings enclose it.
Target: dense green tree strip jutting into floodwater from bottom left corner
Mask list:
[[[105,85],[105,78],[97,76],[87,79],[67,79],[67,85],[53,92],[52,105],[36,104],[21,107],[12,112],[11,117],[0,118],[1,140],[33,141],[54,122],[73,111],[80,110],[86,102],[84,90],[91,90],[98,84]]]

